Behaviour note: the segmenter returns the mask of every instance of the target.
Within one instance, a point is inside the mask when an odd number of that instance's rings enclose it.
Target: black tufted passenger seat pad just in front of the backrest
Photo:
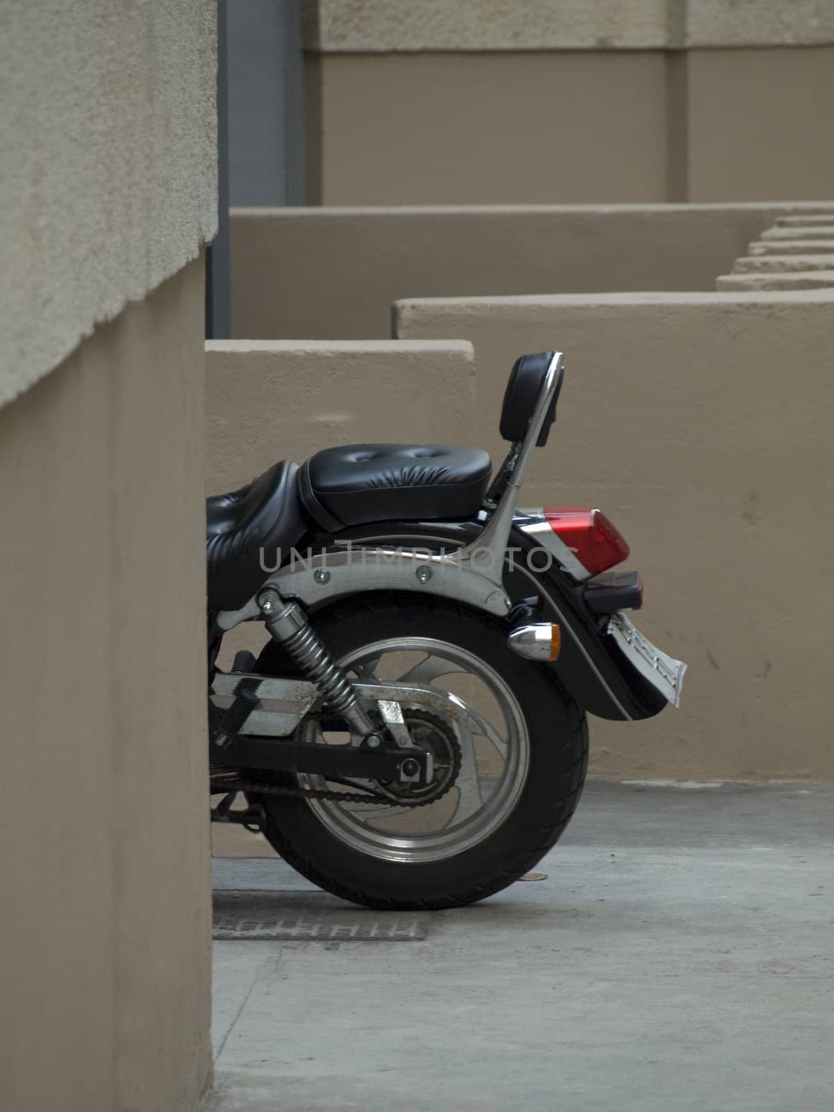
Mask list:
[[[330,533],[366,522],[454,520],[478,512],[492,469],[480,448],[350,444],[308,459],[299,492]]]

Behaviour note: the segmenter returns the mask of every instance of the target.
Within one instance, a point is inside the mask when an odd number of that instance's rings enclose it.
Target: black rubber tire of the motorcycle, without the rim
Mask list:
[[[312,624],[338,661],[387,637],[444,641],[478,656],[514,694],[528,737],[528,767],[517,802],[481,842],[441,861],[403,863],[363,853],[335,835],[302,798],[252,795],[267,816],[264,833],[299,873],[328,892],[368,907],[439,910],[474,903],[518,880],[556,843],[585,781],[585,715],[553,671],[507,647],[506,624],[480,612],[411,595],[364,595],[316,615]],[[258,671],[280,675],[280,649],[267,645]]]

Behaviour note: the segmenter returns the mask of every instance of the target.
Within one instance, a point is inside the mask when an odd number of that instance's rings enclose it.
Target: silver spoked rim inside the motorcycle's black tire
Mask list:
[[[468,725],[449,723],[461,765],[455,785],[437,803],[413,808],[308,800],[322,826],[369,856],[419,864],[464,853],[506,822],[527,778],[529,735],[517,699],[494,668],[467,649],[431,637],[373,642],[339,664],[364,683],[450,692],[466,703]],[[404,701],[401,706],[419,704]],[[327,739],[314,722],[308,722],[305,736]],[[299,775],[298,781],[302,787],[338,787],[321,776]]]

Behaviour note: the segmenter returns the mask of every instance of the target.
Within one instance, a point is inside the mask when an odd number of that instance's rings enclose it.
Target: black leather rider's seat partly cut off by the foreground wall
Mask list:
[[[298,498],[298,468],[280,463],[231,494],[206,499],[206,557],[210,610],[244,606],[282,553],[307,532]]]

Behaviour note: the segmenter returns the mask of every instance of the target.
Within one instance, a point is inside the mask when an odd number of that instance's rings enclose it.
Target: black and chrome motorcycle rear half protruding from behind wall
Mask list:
[[[494,477],[480,449],[363,444],[207,500],[212,821],[262,832],[346,900],[500,891],[574,813],[586,715],[678,704],[685,665],[627,616],[643,583],[615,570],[617,529],[593,508],[518,508],[563,378],[559,353],[516,360]],[[222,672],[244,622],[269,641]]]

